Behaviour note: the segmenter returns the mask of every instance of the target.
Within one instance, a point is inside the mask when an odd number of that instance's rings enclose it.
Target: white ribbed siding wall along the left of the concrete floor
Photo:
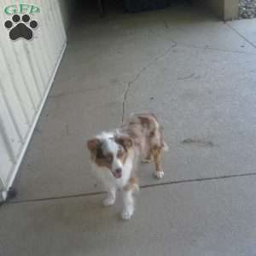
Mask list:
[[[2,14],[14,3],[1,0]],[[3,26],[11,15],[0,15],[0,191],[14,180],[67,42],[57,0],[26,3],[40,8],[31,15],[38,21],[32,41],[11,41]]]

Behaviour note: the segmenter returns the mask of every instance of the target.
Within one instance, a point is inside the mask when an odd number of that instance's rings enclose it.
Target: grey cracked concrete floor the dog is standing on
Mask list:
[[[0,209],[1,255],[255,255],[255,27],[182,4],[74,22]],[[123,222],[119,201],[101,206],[85,142],[145,110],[165,127],[166,176],[140,167]]]

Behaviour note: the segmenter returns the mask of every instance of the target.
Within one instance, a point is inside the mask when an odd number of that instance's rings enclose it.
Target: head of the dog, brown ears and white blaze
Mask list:
[[[133,142],[126,135],[113,135],[102,133],[87,142],[91,160],[96,166],[106,167],[113,177],[122,177],[125,161],[127,160]]]

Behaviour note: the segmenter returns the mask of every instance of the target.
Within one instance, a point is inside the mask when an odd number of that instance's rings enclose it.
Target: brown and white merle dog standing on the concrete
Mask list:
[[[87,147],[92,169],[102,179],[108,191],[103,205],[113,205],[117,190],[121,190],[124,205],[121,217],[130,219],[134,212],[133,193],[139,190],[138,160],[153,161],[154,176],[164,176],[161,155],[168,147],[158,120],[153,113],[131,114],[119,129],[103,131],[90,139]]]

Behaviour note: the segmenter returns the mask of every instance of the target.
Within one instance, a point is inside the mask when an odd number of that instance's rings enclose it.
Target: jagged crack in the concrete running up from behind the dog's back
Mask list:
[[[124,96],[123,96],[123,111],[122,111],[122,118],[121,118],[121,123],[124,122],[124,118],[125,118],[125,102],[126,102],[126,99],[127,99],[127,96],[128,96],[128,93],[129,93],[129,90],[131,89],[131,84],[135,83],[137,81],[137,79],[139,79],[139,77],[141,76],[141,74],[149,67],[151,66],[152,64],[154,64],[155,61],[158,61],[160,58],[163,58],[173,47],[176,47],[177,46],[177,43],[175,42],[171,42],[172,43],[172,46],[169,47],[168,49],[165,50],[164,53],[162,53],[161,55],[158,55],[156,57],[154,57],[153,60],[149,61],[147,65],[145,65],[138,73],[137,75],[135,76],[134,79],[132,79],[130,82],[128,82],[126,88],[125,88],[125,93],[124,93]]]

